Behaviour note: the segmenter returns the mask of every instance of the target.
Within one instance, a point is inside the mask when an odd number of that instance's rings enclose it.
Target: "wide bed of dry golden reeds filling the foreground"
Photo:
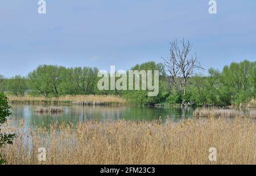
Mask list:
[[[251,118],[88,121],[29,132],[23,121],[18,131],[10,123],[2,130],[16,131],[17,137],[0,151],[7,164],[256,164],[256,125]],[[39,147],[46,147],[46,161],[38,161]],[[210,147],[217,149],[217,161],[208,160]]]

